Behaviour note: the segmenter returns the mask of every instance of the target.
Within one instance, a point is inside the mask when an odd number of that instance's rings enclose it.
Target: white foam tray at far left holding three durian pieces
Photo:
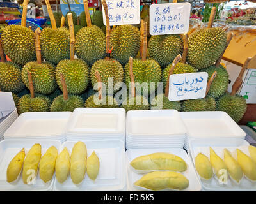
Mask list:
[[[6,170],[13,157],[20,152],[23,147],[25,148],[26,154],[28,154],[29,149],[35,143],[39,143],[42,146],[42,156],[51,146],[55,146],[58,150],[61,147],[61,142],[58,140],[2,140],[0,142],[0,191],[51,191],[55,174],[51,182],[47,183],[40,179],[39,171],[36,175],[35,184],[24,184],[22,181],[22,173],[20,173],[17,182],[15,181],[10,184],[6,181]]]

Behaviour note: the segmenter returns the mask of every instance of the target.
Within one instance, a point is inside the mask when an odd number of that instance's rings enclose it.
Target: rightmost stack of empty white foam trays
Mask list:
[[[189,149],[189,142],[196,139],[244,139],[246,133],[237,123],[222,111],[180,112],[188,133],[184,148]]]

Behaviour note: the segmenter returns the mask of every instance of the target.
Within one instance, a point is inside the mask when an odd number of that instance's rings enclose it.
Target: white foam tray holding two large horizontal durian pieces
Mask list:
[[[186,162],[188,165],[188,168],[186,171],[182,172],[182,174],[189,180],[189,187],[187,189],[184,189],[182,191],[201,191],[202,187],[201,184],[196,177],[195,168],[193,167],[193,164],[191,163],[191,160],[188,157],[188,154],[185,150],[179,149],[179,148],[168,148],[168,149],[129,149],[125,152],[126,157],[126,170],[127,170],[127,191],[140,191],[136,187],[134,187],[134,182],[139,180],[141,177],[143,177],[144,174],[136,173],[134,170],[132,170],[132,167],[130,165],[131,161],[135,159],[136,157],[152,154],[156,152],[166,152],[175,154]]]

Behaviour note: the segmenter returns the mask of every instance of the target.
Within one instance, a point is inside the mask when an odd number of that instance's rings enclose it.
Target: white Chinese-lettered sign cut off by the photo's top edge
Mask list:
[[[140,24],[140,0],[106,0],[108,6],[109,24],[127,25]],[[102,5],[103,22],[106,16]]]

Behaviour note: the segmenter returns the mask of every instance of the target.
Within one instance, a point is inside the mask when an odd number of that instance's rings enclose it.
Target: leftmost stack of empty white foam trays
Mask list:
[[[4,133],[6,140],[66,141],[65,129],[71,112],[22,113]]]

